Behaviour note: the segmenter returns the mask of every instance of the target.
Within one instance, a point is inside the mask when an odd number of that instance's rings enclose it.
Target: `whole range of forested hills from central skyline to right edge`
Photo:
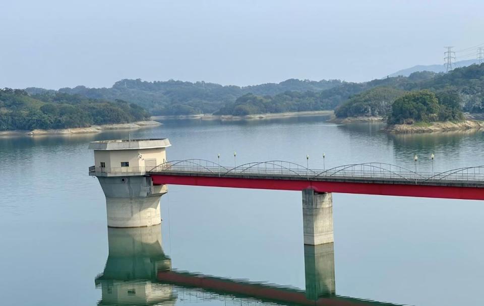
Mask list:
[[[27,88],[32,95],[74,94],[88,99],[125,100],[153,115],[215,113],[247,115],[288,111],[336,109],[336,115],[388,116],[401,95],[428,89],[436,95],[449,93],[463,111],[484,112],[484,64],[457,68],[449,73],[415,72],[408,77],[389,77],[369,82],[290,79],[279,84],[222,86],[206,82],[146,82],[122,80],[111,88],[62,88],[59,91]]]

